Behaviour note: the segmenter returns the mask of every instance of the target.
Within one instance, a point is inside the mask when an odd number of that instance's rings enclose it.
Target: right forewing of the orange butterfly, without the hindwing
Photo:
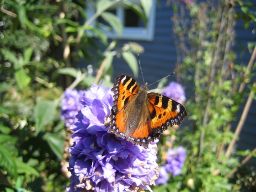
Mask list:
[[[185,108],[167,96],[148,93],[148,103],[150,127],[154,133],[160,134],[173,125],[181,125],[182,120],[187,117]]]

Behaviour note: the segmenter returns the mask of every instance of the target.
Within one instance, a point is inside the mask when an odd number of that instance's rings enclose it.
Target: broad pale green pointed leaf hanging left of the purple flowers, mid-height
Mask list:
[[[56,111],[56,105],[53,101],[39,101],[34,109],[36,120],[36,134],[43,131],[46,125],[52,124]]]

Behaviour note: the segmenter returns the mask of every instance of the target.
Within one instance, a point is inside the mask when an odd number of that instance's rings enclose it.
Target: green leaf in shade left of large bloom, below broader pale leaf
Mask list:
[[[64,150],[64,139],[54,133],[45,133],[43,139],[47,141],[53,153],[61,160]]]

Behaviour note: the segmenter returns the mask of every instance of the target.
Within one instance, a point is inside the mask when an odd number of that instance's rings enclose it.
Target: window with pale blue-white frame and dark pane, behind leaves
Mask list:
[[[134,0],[134,3],[140,5],[139,0]],[[117,4],[108,11],[115,14],[123,23],[123,34],[119,38],[153,41],[155,33],[155,9],[155,1],[153,0],[147,26],[144,25],[143,21],[132,9],[123,4]],[[90,18],[95,13],[95,7],[92,4],[89,5],[86,13],[88,18]],[[106,24],[100,17],[98,18],[98,21]],[[106,31],[106,33],[110,38],[118,38],[117,33],[115,32]]]

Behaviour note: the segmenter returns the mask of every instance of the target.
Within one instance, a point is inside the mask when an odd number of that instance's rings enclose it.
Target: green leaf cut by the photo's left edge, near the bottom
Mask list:
[[[17,166],[11,152],[5,146],[0,145],[0,167],[12,176],[17,176]]]

